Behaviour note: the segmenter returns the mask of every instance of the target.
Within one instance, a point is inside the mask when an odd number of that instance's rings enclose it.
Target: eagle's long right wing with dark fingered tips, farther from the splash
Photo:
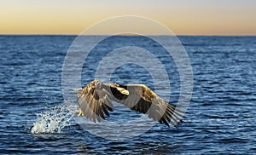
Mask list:
[[[131,110],[148,114],[148,118],[165,123],[167,126],[169,123],[176,126],[183,118],[183,111],[178,110],[176,105],[160,98],[144,84],[119,84],[119,87],[127,89],[129,95],[120,95],[115,98],[115,101],[128,106]]]

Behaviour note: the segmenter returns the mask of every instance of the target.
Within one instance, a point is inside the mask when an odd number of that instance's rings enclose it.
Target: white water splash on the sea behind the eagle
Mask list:
[[[37,114],[32,134],[61,133],[61,129],[71,125],[78,106],[73,101],[64,101],[61,105]]]

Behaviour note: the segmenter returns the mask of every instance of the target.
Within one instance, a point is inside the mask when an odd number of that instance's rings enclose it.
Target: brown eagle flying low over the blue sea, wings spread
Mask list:
[[[147,114],[148,118],[176,127],[182,122],[184,112],[176,105],[166,102],[144,84],[102,83],[96,79],[82,89],[73,89],[78,95],[79,116],[90,121],[101,122],[113,111],[112,101],[131,108],[136,112]]]

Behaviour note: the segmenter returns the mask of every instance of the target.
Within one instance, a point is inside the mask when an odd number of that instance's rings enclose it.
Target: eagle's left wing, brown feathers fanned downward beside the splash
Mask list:
[[[78,91],[78,104],[80,111],[91,121],[101,122],[105,119],[104,114],[109,116],[108,111],[113,111],[108,91],[102,89],[102,83],[94,80]]]

